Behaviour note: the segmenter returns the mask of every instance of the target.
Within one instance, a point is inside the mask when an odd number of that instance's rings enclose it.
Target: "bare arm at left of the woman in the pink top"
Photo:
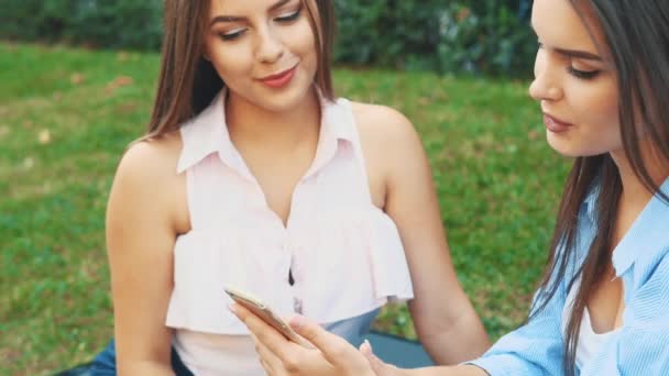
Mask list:
[[[120,375],[173,374],[165,316],[173,288],[175,204],[169,204],[166,187],[174,186],[168,176],[175,174],[166,173],[166,154],[154,144],[134,145],[110,192],[107,250]]]

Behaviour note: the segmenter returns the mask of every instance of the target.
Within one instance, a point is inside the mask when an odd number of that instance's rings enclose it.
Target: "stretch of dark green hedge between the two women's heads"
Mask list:
[[[336,58],[441,73],[526,74],[530,0],[334,1]]]

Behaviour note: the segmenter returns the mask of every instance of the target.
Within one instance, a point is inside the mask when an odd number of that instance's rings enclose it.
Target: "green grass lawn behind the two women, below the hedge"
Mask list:
[[[50,374],[110,339],[105,204],[123,148],[146,124],[157,67],[155,54],[0,43],[0,374]],[[541,274],[567,170],[527,82],[334,76],[341,96],[412,119],[460,280],[494,339],[513,329]],[[414,335],[405,307],[376,325]]]

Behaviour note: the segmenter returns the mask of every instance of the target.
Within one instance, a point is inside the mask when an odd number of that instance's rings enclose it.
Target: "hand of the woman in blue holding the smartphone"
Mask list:
[[[240,305],[232,305],[230,309],[251,331],[260,362],[271,376],[375,375],[370,362],[358,349],[305,317],[296,316],[290,320],[290,327],[316,349],[306,349],[288,341]]]

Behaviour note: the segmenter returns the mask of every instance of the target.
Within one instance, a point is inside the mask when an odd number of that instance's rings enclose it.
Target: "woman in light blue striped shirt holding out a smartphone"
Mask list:
[[[301,317],[320,352],[296,347],[233,306],[271,375],[318,374],[303,358],[357,376],[669,375],[669,3],[535,0],[531,23],[529,93],[574,163],[527,322],[478,360],[404,371]]]

